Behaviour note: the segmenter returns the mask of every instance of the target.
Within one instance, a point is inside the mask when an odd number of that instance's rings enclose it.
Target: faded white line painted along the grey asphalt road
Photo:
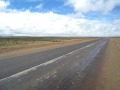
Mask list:
[[[100,42],[100,41],[94,42],[94,43],[89,44],[89,45],[87,45],[87,46],[85,46],[85,47],[82,47],[82,48],[80,48],[80,49],[77,49],[77,50],[72,51],[72,52],[70,52],[70,53],[67,53],[67,54],[65,54],[65,55],[62,55],[62,56],[57,57],[57,58],[55,58],[55,59],[52,59],[52,60],[50,60],[50,61],[48,61],[48,62],[39,64],[39,65],[34,66],[34,67],[32,67],[32,68],[29,68],[29,69],[27,69],[27,70],[18,72],[18,73],[13,74],[13,75],[11,75],[11,76],[9,76],[9,77],[0,79],[0,82],[1,82],[1,81],[4,81],[4,80],[8,80],[8,79],[10,79],[10,78],[17,78],[17,77],[20,77],[20,76],[22,76],[22,75],[26,75],[26,74],[28,74],[28,73],[31,72],[31,71],[35,71],[37,68],[39,68],[39,67],[41,67],[41,66],[46,66],[46,65],[52,64],[52,63],[56,62],[57,60],[66,57],[67,55],[73,54],[73,53],[75,53],[76,51],[79,51],[79,50],[81,50],[81,49],[88,48],[88,47],[90,47],[90,46],[92,46],[92,45],[95,45],[95,44],[98,43],[98,42]]]

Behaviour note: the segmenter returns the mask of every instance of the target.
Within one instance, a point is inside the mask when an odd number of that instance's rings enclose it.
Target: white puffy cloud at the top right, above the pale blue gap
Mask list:
[[[96,11],[107,14],[116,6],[120,6],[120,0],[67,0],[66,4],[81,13]]]

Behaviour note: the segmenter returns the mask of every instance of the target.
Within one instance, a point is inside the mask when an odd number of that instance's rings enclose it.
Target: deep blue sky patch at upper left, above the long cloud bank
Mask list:
[[[10,9],[30,10],[31,12],[52,11],[58,14],[74,13],[70,6],[64,5],[64,0],[11,0]],[[41,8],[36,8],[41,5]]]

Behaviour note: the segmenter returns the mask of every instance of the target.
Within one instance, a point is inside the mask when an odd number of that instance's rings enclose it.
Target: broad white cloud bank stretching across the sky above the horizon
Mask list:
[[[108,36],[120,34],[120,21],[104,24],[53,12],[1,12],[0,35],[14,36]],[[110,32],[110,33],[109,33]]]

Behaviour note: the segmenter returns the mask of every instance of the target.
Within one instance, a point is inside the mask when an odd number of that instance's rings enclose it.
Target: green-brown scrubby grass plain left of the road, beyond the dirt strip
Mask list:
[[[52,38],[52,37],[30,37],[30,38],[0,38],[0,50],[12,49],[34,44],[45,44],[70,40],[70,38]]]

